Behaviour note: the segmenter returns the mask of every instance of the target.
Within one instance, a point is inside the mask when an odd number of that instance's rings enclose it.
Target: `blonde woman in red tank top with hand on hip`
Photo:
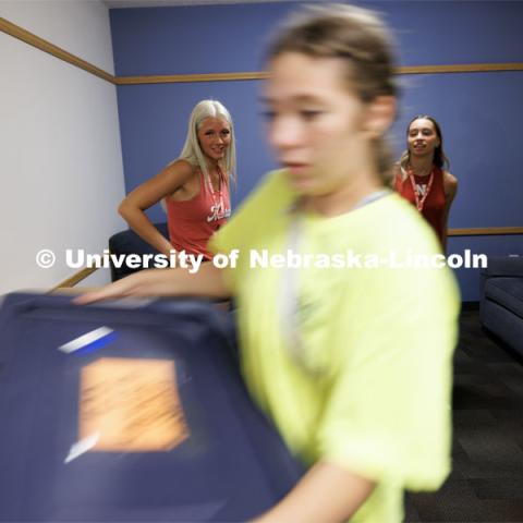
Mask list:
[[[202,100],[191,113],[180,157],[132,191],[118,210],[130,228],[160,253],[184,251],[210,259],[209,238],[231,215],[229,187],[234,171],[231,115],[219,101]],[[169,240],[145,214],[160,200],[167,210]]]

